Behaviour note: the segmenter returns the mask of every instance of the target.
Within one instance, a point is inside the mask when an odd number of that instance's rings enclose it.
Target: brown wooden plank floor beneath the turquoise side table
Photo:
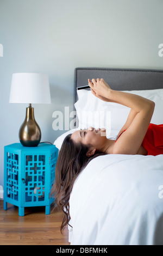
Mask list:
[[[69,245],[68,228],[60,233],[62,213],[55,209],[45,215],[45,207],[25,208],[18,216],[17,206],[8,204],[3,209],[0,200],[0,245]]]

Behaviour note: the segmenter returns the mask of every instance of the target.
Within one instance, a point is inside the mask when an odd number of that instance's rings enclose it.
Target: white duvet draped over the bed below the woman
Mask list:
[[[71,245],[163,245],[163,155],[92,160],[70,197]]]

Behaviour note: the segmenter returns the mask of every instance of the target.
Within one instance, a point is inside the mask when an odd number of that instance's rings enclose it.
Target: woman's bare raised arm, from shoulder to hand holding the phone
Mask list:
[[[151,121],[154,102],[139,95],[112,90],[103,79],[93,79],[89,82],[89,86],[94,95],[100,95],[111,102],[131,108],[126,124],[123,126],[123,130],[127,130],[115,143],[112,153],[136,154]]]

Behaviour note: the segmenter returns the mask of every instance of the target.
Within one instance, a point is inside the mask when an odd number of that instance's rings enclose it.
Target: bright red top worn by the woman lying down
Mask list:
[[[123,132],[121,132],[118,138],[120,138]],[[142,146],[148,151],[147,155],[156,156],[163,154],[163,124],[149,124]]]

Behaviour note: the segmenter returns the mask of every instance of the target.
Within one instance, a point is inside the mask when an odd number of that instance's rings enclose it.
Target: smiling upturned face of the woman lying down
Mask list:
[[[91,145],[96,150],[101,150],[107,140],[104,128],[96,130],[91,126],[86,130],[73,132],[71,138],[76,143],[82,142],[84,145]]]

